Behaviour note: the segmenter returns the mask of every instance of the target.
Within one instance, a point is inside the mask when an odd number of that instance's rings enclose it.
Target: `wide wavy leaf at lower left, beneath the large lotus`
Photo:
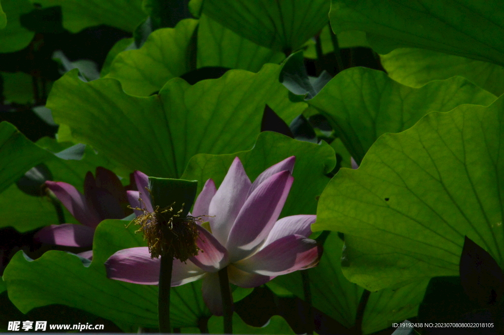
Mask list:
[[[107,258],[117,250],[145,246],[138,228],[127,221],[105,220],[96,229],[93,261],[63,251],[48,251],[36,260],[18,252],[4,272],[9,298],[23,313],[49,304],[81,308],[120,324],[156,328],[157,286],[107,279]],[[210,316],[201,296],[201,281],[172,288],[174,327],[198,326]]]

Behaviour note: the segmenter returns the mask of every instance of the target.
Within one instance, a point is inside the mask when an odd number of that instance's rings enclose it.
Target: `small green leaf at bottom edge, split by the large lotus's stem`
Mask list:
[[[208,330],[211,334],[222,334],[224,317],[215,316],[208,320]],[[233,333],[235,334],[295,334],[287,321],[280,315],[273,315],[263,327],[246,324],[238,314],[233,313]]]

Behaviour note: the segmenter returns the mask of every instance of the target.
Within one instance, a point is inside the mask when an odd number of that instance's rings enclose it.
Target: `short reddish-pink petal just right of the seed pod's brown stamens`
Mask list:
[[[198,231],[200,236],[197,244],[203,251],[191,257],[191,261],[205,272],[217,272],[228,264],[227,250],[205,228],[198,226]]]

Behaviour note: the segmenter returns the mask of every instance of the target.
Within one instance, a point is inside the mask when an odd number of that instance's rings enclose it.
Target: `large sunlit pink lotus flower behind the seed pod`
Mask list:
[[[198,247],[203,252],[186,263],[173,260],[171,286],[203,278],[206,305],[213,314],[222,315],[217,272],[224,267],[227,266],[231,283],[251,288],[276,276],[317,265],[322,248],[307,238],[316,216],[295,215],[277,221],[294,179],[294,161],[292,156],[273,165],[251,183],[236,157],[218,190],[212,179],[207,180],[192,214],[211,216],[204,217],[209,221],[208,230],[205,224],[198,226]],[[135,178],[138,189],[145,189],[147,176],[137,171]],[[140,196],[139,192],[128,191],[132,207],[144,207]],[[146,210],[152,212],[148,198],[142,200]],[[160,259],[151,259],[148,247],[119,250],[105,266],[108,278],[158,284]]]

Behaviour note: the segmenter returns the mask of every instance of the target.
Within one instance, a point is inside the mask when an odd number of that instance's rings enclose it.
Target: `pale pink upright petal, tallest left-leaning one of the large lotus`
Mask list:
[[[250,185],[243,165],[236,157],[212,198],[208,210],[209,215],[215,216],[215,218],[208,218],[212,234],[222,245],[226,244],[234,220],[245,203]]]

